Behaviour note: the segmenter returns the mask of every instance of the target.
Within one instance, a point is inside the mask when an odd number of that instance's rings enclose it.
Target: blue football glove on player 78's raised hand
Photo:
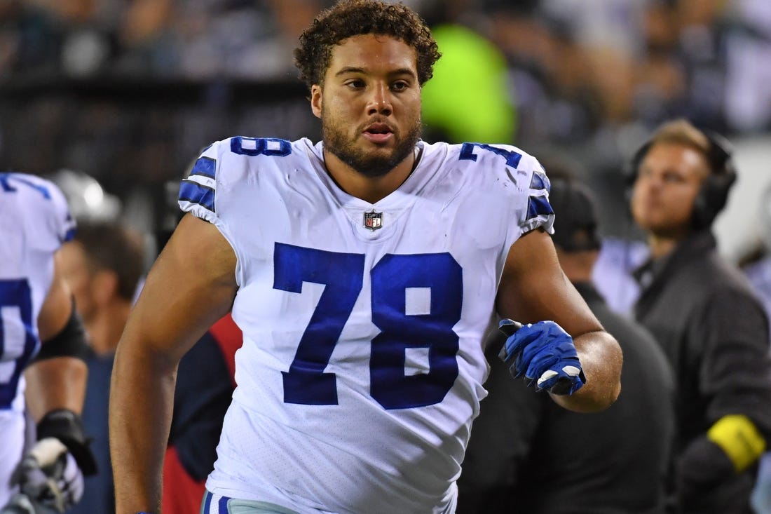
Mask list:
[[[507,336],[498,357],[509,364],[514,378],[524,374],[528,387],[573,394],[586,384],[573,338],[554,321],[523,325],[500,320],[498,328]]]

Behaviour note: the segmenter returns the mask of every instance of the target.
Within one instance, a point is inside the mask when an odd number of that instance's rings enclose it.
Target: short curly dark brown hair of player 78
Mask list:
[[[342,0],[316,16],[302,32],[300,46],[295,49],[295,66],[308,89],[322,83],[332,59],[332,47],[362,34],[392,36],[412,46],[417,53],[421,86],[433,76],[433,65],[442,56],[426,22],[401,2]]]

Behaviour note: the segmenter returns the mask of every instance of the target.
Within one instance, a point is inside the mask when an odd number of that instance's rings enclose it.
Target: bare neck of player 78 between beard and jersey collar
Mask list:
[[[380,177],[367,177],[345,164],[332,152],[324,150],[324,164],[335,184],[346,193],[371,204],[382,200],[399,188],[416,164],[416,154],[410,154],[391,171]]]

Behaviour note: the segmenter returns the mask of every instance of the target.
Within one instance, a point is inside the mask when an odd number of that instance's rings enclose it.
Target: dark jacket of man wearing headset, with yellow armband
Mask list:
[[[635,275],[642,288],[635,317],[675,370],[682,512],[752,512],[756,466],[737,475],[705,433],[726,414],[745,414],[769,441],[771,362],[763,306],[742,273],[719,257],[709,231]]]

